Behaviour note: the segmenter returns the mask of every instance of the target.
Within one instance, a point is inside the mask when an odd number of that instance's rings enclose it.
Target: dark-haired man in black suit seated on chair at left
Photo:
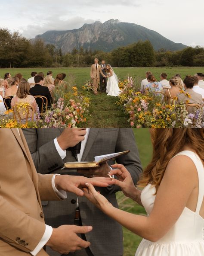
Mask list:
[[[30,93],[32,96],[44,96],[48,100],[48,107],[51,107],[52,97],[49,92],[49,89],[46,86],[42,86],[43,84],[43,77],[41,76],[35,76],[35,86],[30,89]],[[37,99],[37,105],[39,106],[39,109],[41,111],[42,109],[42,101]]]

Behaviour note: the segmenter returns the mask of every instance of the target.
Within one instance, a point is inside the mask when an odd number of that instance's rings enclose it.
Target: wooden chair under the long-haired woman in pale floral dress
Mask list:
[[[25,107],[19,107],[19,104],[16,104],[13,106],[13,118],[14,121],[19,122],[22,124],[22,120],[25,119],[25,123],[28,122],[28,115],[30,110],[32,110],[32,116],[31,116],[31,121],[34,120],[34,108],[31,105],[27,105]],[[22,115],[23,113],[23,115]],[[24,117],[25,116],[25,117]]]

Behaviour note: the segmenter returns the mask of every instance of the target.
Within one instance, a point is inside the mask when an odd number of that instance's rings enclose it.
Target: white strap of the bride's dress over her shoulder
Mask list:
[[[203,163],[202,163],[200,157],[198,157],[197,154],[195,154],[194,152],[192,152],[190,150],[184,150],[182,152],[179,152],[174,157],[176,157],[178,155],[185,155],[185,156],[191,158],[191,160],[195,164],[196,170],[198,172],[198,202],[197,202],[195,213],[199,214],[201,205],[203,202],[203,198],[204,198],[204,166],[203,166]],[[172,157],[172,159],[174,157]]]

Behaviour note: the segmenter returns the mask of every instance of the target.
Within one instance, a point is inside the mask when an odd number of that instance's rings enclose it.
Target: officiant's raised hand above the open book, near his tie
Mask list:
[[[62,150],[66,150],[68,147],[76,146],[80,141],[84,140],[86,133],[86,128],[65,128],[57,138],[59,147]]]

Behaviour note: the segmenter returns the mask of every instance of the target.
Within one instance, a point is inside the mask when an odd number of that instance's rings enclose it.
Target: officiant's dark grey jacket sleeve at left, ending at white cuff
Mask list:
[[[37,129],[28,128],[22,129],[22,131],[38,173],[51,173],[64,165],[62,158],[56,150],[54,140],[37,148]]]

